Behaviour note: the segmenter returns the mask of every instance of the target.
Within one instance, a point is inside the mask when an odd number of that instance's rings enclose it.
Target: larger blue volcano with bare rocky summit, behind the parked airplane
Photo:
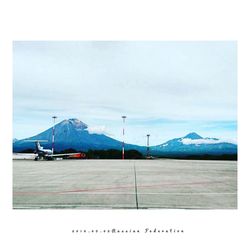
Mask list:
[[[62,151],[73,148],[87,151],[89,149],[121,149],[122,142],[110,138],[104,134],[91,134],[87,130],[88,126],[78,119],[64,120],[55,125],[55,151]],[[47,140],[41,143],[44,148],[52,148],[52,127],[48,130],[23,140],[13,143],[13,151],[34,148],[34,142],[27,140]],[[126,144],[126,149],[136,149],[139,146]]]

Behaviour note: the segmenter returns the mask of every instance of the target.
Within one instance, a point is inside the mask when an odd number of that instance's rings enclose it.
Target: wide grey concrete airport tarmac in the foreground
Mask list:
[[[13,160],[15,209],[236,209],[237,162]]]

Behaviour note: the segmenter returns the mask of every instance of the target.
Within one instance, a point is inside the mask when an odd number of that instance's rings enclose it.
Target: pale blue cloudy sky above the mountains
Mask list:
[[[52,116],[90,133],[157,145],[196,132],[237,140],[235,41],[15,41],[13,138]]]

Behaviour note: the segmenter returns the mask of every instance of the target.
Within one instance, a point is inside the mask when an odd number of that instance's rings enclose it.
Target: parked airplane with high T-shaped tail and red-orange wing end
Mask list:
[[[35,142],[36,150],[35,150],[35,161],[38,160],[54,160],[55,158],[69,158],[69,159],[83,159],[85,158],[84,153],[67,153],[67,154],[53,154],[51,149],[44,149],[40,142],[47,142],[46,140],[27,140],[29,142]]]

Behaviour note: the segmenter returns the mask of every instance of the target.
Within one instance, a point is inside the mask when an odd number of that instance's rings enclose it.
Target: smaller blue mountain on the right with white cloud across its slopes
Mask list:
[[[150,149],[152,154],[160,155],[237,154],[237,144],[217,138],[203,138],[194,132]]]

